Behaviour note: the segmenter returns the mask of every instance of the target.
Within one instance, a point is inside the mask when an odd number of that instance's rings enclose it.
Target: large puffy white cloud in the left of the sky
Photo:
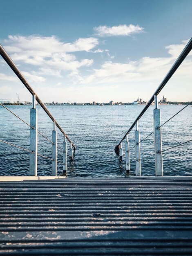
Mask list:
[[[80,67],[92,65],[92,59],[78,61],[70,52],[90,52],[98,45],[97,38],[79,38],[73,43],[61,42],[56,36],[9,36],[4,40],[5,49],[16,62],[23,62],[40,67],[39,72],[54,68],[58,76],[63,71],[77,71]]]

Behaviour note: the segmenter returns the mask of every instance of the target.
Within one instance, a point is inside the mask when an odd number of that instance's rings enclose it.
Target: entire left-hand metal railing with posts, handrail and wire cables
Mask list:
[[[70,143],[70,154],[69,159],[71,160],[73,158],[73,149],[76,150],[75,145],[73,142],[69,139],[67,134],[64,132],[64,130],[60,127],[58,122],[54,119],[54,117],[51,115],[45,104],[40,100],[36,92],[31,88],[31,85],[27,82],[25,77],[22,75],[22,73],[18,70],[18,67],[13,63],[10,56],[7,54],[7,52],[4,50],[2,45],[0,45],[0,55],[2,58],[4,58],[4,61],[11,67],[13,72],[18,76],[20,81],[25,85],[27,90],[32,94],[32,108],[30,109],[30,124],[28,124],[26,121],[18,117],[15,113],[13,113],[9,108],[6,108],[3,104],[0,103],[0,106],[4,107],[6,110],[11,112],[14,116],[16,116],[20,121],[24,122],[30,127],[30,150],[22,148],[20,146],[16,146],[8,141],[4,141],[0,139],[0,142],[8,144],[9,146],[13,146],[16,148],[20,148],[22,150],[25,150],[30,153],[29,155],[29,175],[36,176],[37,175],[37,156],[44,157],[46,159],[49,159],[52,161],[52,176],[57,175],[57,163],[63,165],[63,172],[66,173],[67,171],[67,141]],[[36,101],[39,103],[39,105],[42,107],[42,109],[46,112],[46,114],[49,116],[49,118],[53,121],[53,130],[52,130],[52,140],[48,139],[45,135],[43,135],[41,132],[38,131],[38,111],[36,109]],[[56,126],[58,129],[63,133],[63,163],[57,161],[57,148],[60,148],[57,146],[57,132],[56,132]],[[42,137],[44,137],[48,143],[52,144],[52,157],[46,157],[44,155],[41,155],[38,153],[38,134]]]

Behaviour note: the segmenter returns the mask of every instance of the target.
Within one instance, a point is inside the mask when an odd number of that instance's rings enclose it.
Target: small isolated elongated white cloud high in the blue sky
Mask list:
[[[138,25],[119,25],[113,27],[99,26],[94,27],[94,31],[98,36],[130,36],[131,34],[141,33],[143,27]]]

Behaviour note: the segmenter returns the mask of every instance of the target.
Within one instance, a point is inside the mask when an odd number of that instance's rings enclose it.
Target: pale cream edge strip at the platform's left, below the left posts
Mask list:
[[[24,180],[56,180],[65,178],[66,176],[0,176],[0,182]]]

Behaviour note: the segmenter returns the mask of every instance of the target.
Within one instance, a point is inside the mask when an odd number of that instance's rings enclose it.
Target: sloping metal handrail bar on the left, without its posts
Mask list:
[[[63,135],[66,136],[66,139],[72,144],[74,150],[76,150],[75,145],[73,144],[73,142],[69,139],[69,137],[67,136],[67,134],[64,132],[64,130],[60,127],[60,125],[57,123],[57,121],[54,119],[54,117],[51,115],[51,113],[49,112],[48,108],[45,106],[45,104],[40,100],[40,98],[38,97],[38,95],[36,94],[36,92],[33,90],[33,88],[31,88],[31,86],[29,85],[29,83],[27,82],[27,80],[25,79],[25,77],[23,76],[23,74],[18,70],[18,67],[15,65],[15,63],[11,60],[10,56],[7,54],[7,52],[5,51],[5,49],[2,47],[2,45],[0,44],[0,55],[2,56],[2,58],[4,59],[4,61],[6,61],[6,63],[9,65],[9,67],[11,67],[11,69],[13,70],[13,72],[16,74],[16,76],[18,76],[18,78],[20,79],[20,81],[25,85],[25,87],[27,88],[27,90],[32,94],[32,95],[36,95],[36,101],[39,103],[39,105],[42,107],[42,109],[47,113],[47,115],[51,118],[52,121],[55,122],[56,126],[58,127],[58,129],[63,133]]]

